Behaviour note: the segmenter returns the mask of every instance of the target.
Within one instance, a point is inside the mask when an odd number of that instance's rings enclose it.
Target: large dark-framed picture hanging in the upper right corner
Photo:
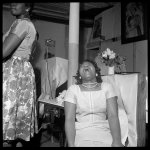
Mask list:
[[[121,43],[147,39],[147,4],[142,2],[121,3]]]

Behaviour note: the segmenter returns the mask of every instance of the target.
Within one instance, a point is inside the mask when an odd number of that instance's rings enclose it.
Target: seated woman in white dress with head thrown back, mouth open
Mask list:
[[[96,63],[86,60],[78,70],[77,84],[64,99],[65,133],[69,147],[123,147],[117,96],[102,82]]]

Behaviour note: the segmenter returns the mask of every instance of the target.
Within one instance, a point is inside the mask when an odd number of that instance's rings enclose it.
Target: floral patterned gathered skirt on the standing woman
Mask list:
[[[3,140],[30,141],[38,132],[35,75],[30,62],[13,56],[3,63]]]

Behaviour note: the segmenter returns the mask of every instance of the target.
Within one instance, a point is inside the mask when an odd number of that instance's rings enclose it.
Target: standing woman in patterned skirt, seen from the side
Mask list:
[[[3,36],[3,146],[23,146],[37,133],[35,75],[29,62],[36,29],[31,3],[11,3],[16,20]]]

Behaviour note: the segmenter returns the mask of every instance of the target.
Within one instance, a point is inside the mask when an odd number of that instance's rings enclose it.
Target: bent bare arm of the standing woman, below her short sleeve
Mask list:
[[[15,34],[9,34],[3,42],[3,58],[9,56],[20,45],[22,40]]]

